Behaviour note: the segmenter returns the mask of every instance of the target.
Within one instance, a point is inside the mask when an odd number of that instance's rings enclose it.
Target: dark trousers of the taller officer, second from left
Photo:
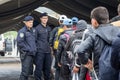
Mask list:
[[[35,80],[50,80],[52,56],[50,53],[37,53],[35,57]],[[42,75],[43,74],[43,75]]]

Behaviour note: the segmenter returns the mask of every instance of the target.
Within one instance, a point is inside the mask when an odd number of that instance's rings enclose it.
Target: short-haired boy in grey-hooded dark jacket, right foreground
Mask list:
[[[110,56],[106,56],[104,59],[101,58],[104,56],[105,46],[108,44],[111,45],[113,39],[117,36],[119,29],[108,24],[109,13],[108,10],[102,6],[96,7],[91,11],[91,23],[94,32],[79,45],[75,50],[75,53],[78,53],[81,64],[90,71],[94,71],[95,69],[95,74],[97,74],[99,80],[116,80],[116,76],[114,75],[116,74],[116,71],[106,74],[106,71],[108,70],[104,70],[104,64],[101,65],[101,62],[108,59],[108,62],[105,63],[108,63],[108,66],[110,66]],[[91,50],[91,53],[93,54],[93,57],[91,57],[93,58],[93,61],[85,54],[88,50]]]

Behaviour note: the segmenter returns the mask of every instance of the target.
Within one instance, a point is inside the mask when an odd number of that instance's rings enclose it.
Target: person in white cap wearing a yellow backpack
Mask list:
[[[64,31],[62,24],[64,19],[67,19],[66,15],[61,15],[59,17],[59,27],[55,27],[52,32],[50,33],[50,46],[53,50],[53,55],[55,58],[55,63],[54,63],[54,68],[55,68],[55,80],[59,79],[59,74],[60,74],[60,67],[57,65],[58,62],[56,60],[56,56],[57,56],[57,48],[58,48],[58,43],[59,43],[59,37],[61,35],[61,33]],[[58,42],[58,43],[57,43]]]

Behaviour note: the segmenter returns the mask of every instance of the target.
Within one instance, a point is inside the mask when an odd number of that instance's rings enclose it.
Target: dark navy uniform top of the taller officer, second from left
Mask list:
[[[51,28],[39,24],[36,27],[37,52],[50,53],[49,37]]]

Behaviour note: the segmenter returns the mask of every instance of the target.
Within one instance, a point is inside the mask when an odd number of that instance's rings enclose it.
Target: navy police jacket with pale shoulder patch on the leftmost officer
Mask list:
[[[36,54],[35,29],[31,28],[29,30],[26,26],[20,29],[17,36],[17,46],[20,51],[27,52],[28,55],[35,55]]]

